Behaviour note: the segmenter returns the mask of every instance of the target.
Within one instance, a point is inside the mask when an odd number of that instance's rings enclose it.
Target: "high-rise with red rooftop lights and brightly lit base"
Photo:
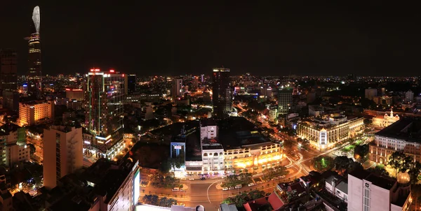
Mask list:
[[[86,147],[98,156],[112,158],[123,138],[124,74],[114,70],[91,69],[86,80],[85,127],[91,133]]]

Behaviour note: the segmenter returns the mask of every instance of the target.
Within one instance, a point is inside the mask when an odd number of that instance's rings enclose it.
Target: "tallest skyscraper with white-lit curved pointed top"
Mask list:
[[[40,19],[39,6],[34,8],[32,13],[33,29],[32,34],[29,36],[29,54],[28,54],[28,92],[30,94],[36,94],[41,96],[42,87],[41,87],[41,43],[39,37],[39,25],[41,22]]]

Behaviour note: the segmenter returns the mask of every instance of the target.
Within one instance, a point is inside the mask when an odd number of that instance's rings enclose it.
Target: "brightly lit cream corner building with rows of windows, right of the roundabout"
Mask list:
[[[361,133],[363,128],[363,117],[347,119],[345,115],[326,115],[298,122],[297,134],[309,140],[316,149],[326,150]]]

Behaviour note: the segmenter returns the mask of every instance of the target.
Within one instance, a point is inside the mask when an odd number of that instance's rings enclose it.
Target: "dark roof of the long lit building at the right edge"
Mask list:
[[[402,118],[375,133],[376,136],[397,138],[410,142],[421,142],[421,119]]]

